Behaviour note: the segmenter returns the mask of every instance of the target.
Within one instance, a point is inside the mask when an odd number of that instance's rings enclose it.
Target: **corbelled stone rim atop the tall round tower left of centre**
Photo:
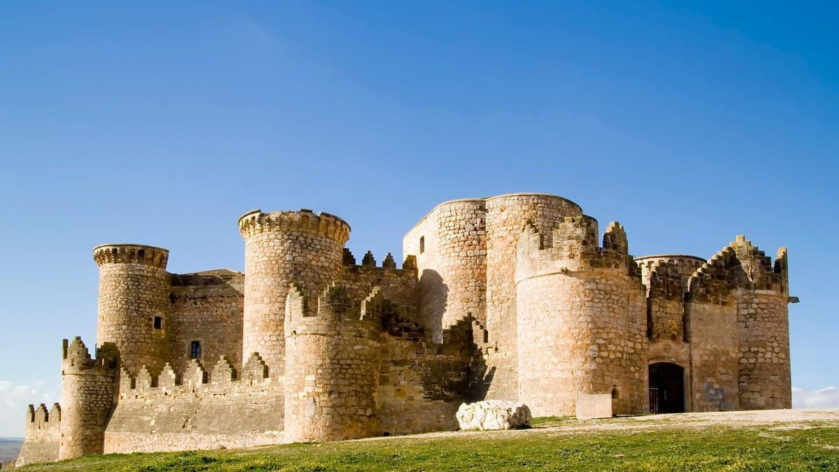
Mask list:
[[[247,212],[239,218],[242,238],[267,232],[319,234],[340,244],[350,238],[350,225],[341,218],[326,212],[315,214],[309,209],[299,212]]]

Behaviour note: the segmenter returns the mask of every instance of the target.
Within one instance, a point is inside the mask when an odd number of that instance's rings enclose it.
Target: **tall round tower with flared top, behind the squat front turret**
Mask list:
[[[242,359],[256,352],[269,375],[283,375],[285,298],[289,285],[317,296],[343,270],[350,226],[329,213],[248,212],[239,218],[245,240]]]

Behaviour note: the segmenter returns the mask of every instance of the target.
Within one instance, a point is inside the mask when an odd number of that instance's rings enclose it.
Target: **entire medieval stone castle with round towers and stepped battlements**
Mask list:
[[[29,406],[18,464],[456,429],[463,402],[574,414],[789,408],[787,254],[635,258],[565,198],[441,203],[357,263],[328,213],[239,218],[245,273],[93,249],[97,347],[64,341],[60,406]]]

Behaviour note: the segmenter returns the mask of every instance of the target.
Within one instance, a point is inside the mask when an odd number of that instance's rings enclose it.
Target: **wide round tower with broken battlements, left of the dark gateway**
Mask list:
[[[574,414],[578,393],[611,394],[616,414],[647,411],[644,286],[623,227],[598,247],[594,218],[564,218],[551,244],[529,226],[515,268],[519,400],[534,416]]]

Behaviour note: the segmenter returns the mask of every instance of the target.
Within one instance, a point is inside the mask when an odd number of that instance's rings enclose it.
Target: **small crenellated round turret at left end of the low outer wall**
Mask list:
[[[59,459],[102,454],[116,394],[117,346],[102,344],[91,359],[81,338],[64,340],[61,359]]]

